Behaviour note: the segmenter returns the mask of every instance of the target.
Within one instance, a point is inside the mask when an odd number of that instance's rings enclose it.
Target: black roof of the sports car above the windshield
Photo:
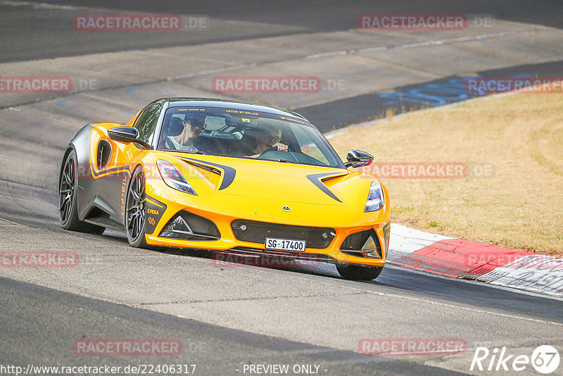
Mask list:
[[[274,113],[276,115],[291,116],[292,118],[298,118],[305,121],[302,115],[294,113],[292,111],[284,110],[283,108],[277,108],[272,106],[263,106],[260,104],[251,104],[243,101],[229,101],[227,99],[213,99],[213,98],[160,98],[152,103],[157,102],[168,102],[170,107],[183,107],[183,106],[202,106],[202,107],[217,107],[217,108],[238,108],[246,111],[260,111],[265,113]]]

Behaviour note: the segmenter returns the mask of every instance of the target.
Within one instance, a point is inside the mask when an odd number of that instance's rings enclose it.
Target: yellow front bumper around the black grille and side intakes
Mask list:
[[[177,203],[177,201],[167,200],[162,196],[156,196],[154,194],[156,192],[149,191],[147,193],[148,201],[153,201],[161,206],[161,211],[158,218],[155,215],[153,215],[152,217],[153,219],[151,220],[151,222],[153,222],[153,225],[148,224],[148,222],[146,221],[147,244],[155,246],[205,249],[211,251],[224,251],[234,253],[254,253],[263,255],[287,256],[296,259],[310,258],[316,261],[327,263],[354,263],[360,265],[384,266],[386,262],[389,236],[388,229],[390,226],[388,219],[388,210],[386,210],[385,213],[378,213],[376,220],[364,221],[365,223],[359,223],[361,221],[355,220],[355,223],[351,225],[346,225],[346,221],[342,220],[342,218],[338,218],[338,220],[331,220],[331,218],[327,218],[326,213],[325,215],[323,215],[323,213],[320,213],[318,215],[318,218],[322,218],[322,221],[318,220],[318,222],[322,223],[315,223],[315,225],[313,225],[311,223],[311,220],[308,218],[300,222],[297,222],[295,218],[293,218],[293,221],[291,222],[284,221],[284,223],[282,223],[281,220],[276,220],[278,218],[263,218],[263,216],[261,216],[262,218],[257,218],[254,216],[251,218],[241,218],[241,216],[228,213],[229,210],[225,210],[225,212],[227,213],[217,213],[217,211],[205,210],[205,208],[201,208],[201,206],[186,206],[185,204]],[[298,210],[299,206],[295,205],[295,207],[296,210]],[[323,208],[323,210],[328,209]],[[183,211],[201,218],[205,218],[206,220],[209,220],[211,223],[213,223],[219,233],[218,239],[213,239],[212,237],[197,237],[197,235],[192,237],[192,239],[173,239],[172,237],[170,237],[170,231],[163,230],[166,230],[167,228],[169,229],[170,227],[166,227],[167,224],[171,221],[174,221],[179,213],[182,213]],[[154,213],[154,207],[151,209],[151,213]],[[248,213],[248,211],[246,211],[246,213]],[[150,216],[150,213],[147,212],[147,218],[148,216]],[[186,218],[185,215],[184,218]],[[309,227],[310,229],[312,229],[312,234],[318,233],[324,235],[325,232],[323,232],[322,230],[330,230],[331,235],[329,241],[327,242],[327,246],[324,246],[322,242],[310,242],[307,239],[303,239],[307,240],[308,244],[304,252],[267,250],[265,248],[265,243],[261,240],[259,241],[258,239],[253,239],[252,242],[246,242],[241,240],[240,234],[236,236],[236,228],[233,227],[237,223],[240,223],[241,220],[246,223],[271,223],[272,227],[294,226],[299,230],[295,231],[294,234],[304,234],[305,232],[303,231],[303,228],[306,229],[307,227]],[[376,239],[373,240],[379,247],[379,257],[367,257],[363,256],[360,252],[350,251],[349,239],[348,242],[346,242],[346,244],[348,244],[348,248],[346,248],[345,240],[350,234],[364,232],[366,230],[373,230],[373,232],[370,233],[375,234]],[[194,232],[197,233],[197,231]],[[283,232],[283,236],[280,237],[284,239],[300,239],[300,235],[297,235],[295,237],[287,237],[287,234],[288,231],[286,229]],[[277,237],[275,236],[274,232],[272,232],[272,234],[268,236]],[[237,237],[239,239],[237,239]],[[309,244],[311,244],[312,246],[309,246]],[[345,244],[344,247],[343,244]]]

